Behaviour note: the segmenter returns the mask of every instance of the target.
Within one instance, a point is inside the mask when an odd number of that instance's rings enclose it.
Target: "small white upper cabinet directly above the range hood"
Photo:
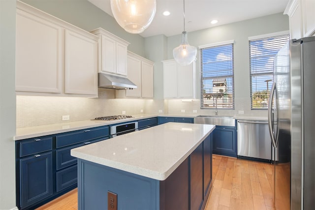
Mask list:
[[[98,72],[127,75],[128,42],[101,28],[92,30],[98,39]]]

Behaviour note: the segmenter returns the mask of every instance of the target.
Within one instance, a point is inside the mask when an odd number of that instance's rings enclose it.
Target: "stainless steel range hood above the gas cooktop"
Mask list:
[[[126,77],[98,73],[98,88],[125,90],[136,89],[137,86]]]

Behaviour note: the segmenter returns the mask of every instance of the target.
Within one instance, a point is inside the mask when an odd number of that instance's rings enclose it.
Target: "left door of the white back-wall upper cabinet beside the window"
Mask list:
[[[164,98],[177,98],[177,63],[175,60],[163,63]]]

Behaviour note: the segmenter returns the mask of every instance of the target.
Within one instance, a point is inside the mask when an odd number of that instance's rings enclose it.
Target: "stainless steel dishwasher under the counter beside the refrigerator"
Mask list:
[[[271,160],[267,120],[237,120],[237,155]]]

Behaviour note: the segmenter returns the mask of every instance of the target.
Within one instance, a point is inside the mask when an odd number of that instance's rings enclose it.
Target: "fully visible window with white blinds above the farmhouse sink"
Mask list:
[[[234,109],[233,40],[199,48],[201,109]]]

